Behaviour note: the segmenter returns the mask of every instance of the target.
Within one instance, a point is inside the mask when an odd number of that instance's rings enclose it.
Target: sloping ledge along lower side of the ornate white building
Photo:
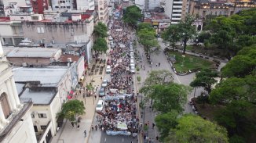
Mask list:
[[[31,106],[33,105],[31,98],[20,98],[22,107],[19,112],[13,113],[9,116],[10,122],[5,126],[5,128],[0,132],[0,142],[2,142],[6,136],[13,130],[13,127],[16,126],[16,123],[21,121],[21,118],[27,113]]]

